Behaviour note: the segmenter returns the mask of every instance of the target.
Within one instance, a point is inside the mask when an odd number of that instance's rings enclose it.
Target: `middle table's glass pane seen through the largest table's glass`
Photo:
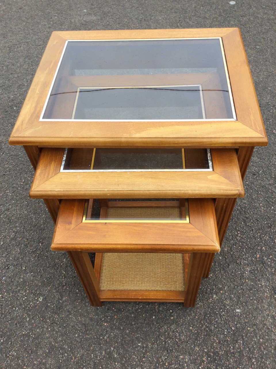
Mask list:
[[[72,118],[179,120],[205,118],[201,86],[79,89]]]

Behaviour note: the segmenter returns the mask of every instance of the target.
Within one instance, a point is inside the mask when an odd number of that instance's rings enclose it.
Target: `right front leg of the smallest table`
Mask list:
[[[185,273],[185,300],[184,307],[194,307],[197,300],[205,263],[209,258],[209,253],[193,252],[190,254],[188,270]]]

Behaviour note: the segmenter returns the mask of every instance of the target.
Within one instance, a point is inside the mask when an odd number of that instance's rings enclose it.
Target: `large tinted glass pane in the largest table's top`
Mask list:
[[[68,41],[43,119],[235,119],[221,40]]]

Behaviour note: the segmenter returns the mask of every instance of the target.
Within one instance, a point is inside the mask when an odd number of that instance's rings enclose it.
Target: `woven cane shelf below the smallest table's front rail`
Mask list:
[[[183,291],[183,255],[104,253],[100,289]]]

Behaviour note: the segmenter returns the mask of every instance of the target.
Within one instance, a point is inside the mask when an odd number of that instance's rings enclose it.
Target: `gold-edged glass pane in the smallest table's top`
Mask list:
[[[83,222],[188,222],[184,199],[86,200]]]

